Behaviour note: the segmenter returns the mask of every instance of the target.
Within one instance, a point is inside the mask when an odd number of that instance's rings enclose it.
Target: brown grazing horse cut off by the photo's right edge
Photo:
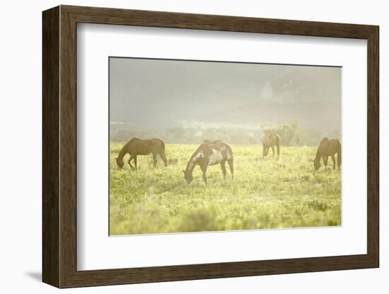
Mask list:
[[[337,154],[337,169],[339,170],[342,164],[342,145],[337,139],[324,138],[320,141],[318,152],[316,152],[316,158],[313,160],[313,167],[315,170],[320,168],[320,159],[323,158],[323,163],[327,166],[328,156],[331,156],[332,163],[335,170],[335,154]]]

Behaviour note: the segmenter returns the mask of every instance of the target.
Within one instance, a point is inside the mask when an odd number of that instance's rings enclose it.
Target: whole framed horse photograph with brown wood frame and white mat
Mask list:
[[[42,17],[45,283],[379,266],[378,26]]]

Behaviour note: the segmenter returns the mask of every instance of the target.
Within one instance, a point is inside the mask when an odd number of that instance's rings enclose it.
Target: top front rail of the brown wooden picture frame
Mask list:
[[[323,23],[302,20],[281,20],[207,14],[139,11],[117,8],[61,6],[66,14],[79,23],[111,25],[139,25],[159,28],[186,28],[196,30],[223,30],[245,33],[281,35],[310,35],[318,37],[352,37],[367,39],[373,25]]]

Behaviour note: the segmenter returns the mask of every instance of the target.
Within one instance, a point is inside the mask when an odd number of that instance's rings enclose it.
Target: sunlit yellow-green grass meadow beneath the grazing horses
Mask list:
[[[178,233],[341,225],[341,172],[313,172],[315,149],[282,147],[279,159],[262,158],[262,146],[231,146],[235,180],[227,167],[208,168],[208,184],[197,166],[187,185],[182,170],[197,146],[167,145],[170,162],[153,168],[138,156],[140,170],[118,170],[122,143],[111,143],[110,234]],[[271,151],[270,151],[271,154]],[[127,155],[128,156],[128,155]]]

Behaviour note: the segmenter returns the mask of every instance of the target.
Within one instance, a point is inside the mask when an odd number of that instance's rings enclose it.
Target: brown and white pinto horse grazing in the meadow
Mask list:
[[[202,170],[202,180],[207,184],[207,167],[209,165],[220,164],[223,171],[223,180],[226,181],[226,161],[230,166],[232,180],[233,180],[233,154],[231,147],[221,141],[204,141],[196,151],[194,151],[192,157],[187,163],[186,170],[184,172],[185,180],[187,184],[190,184],[193,180],[193,170],[196,165],[199,165]]]

